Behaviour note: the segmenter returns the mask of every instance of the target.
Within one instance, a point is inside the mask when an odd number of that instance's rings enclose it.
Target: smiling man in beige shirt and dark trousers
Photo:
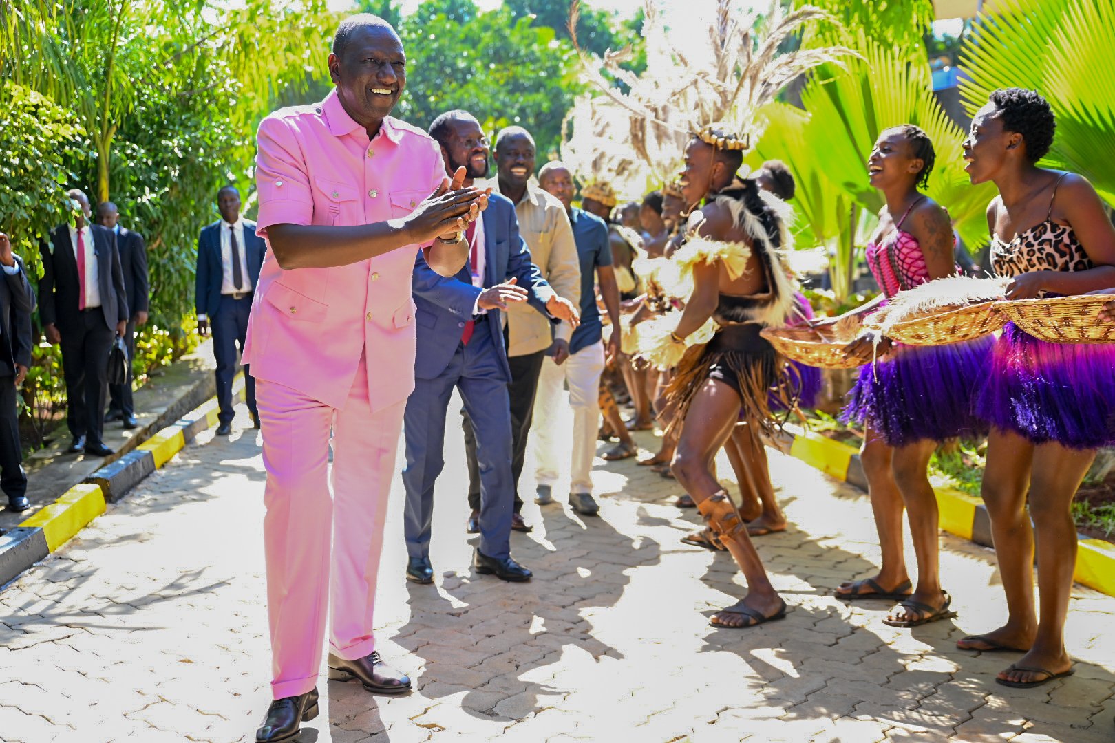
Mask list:
[[[531,183],[534,174],[534,138],[517,126],[506,127],[495,140],[496,179],[488,183],[515,205],[518,229],[531,260],[542,272],[542,277],[568,301],[575,313],[581,302],[581,267],[573,241],[569,215],[560,201]],[[518,477],[523,472],[526,436],[531,430],[534,412],[534,393],[539,385],[542,361],[549,354],[561,364],[569,358],[569,339],[573,327],[568,323],[554,324],[533,307],[522,304],[507,306],[507,363],[511,365],[511,426],[512,475],[515,482],[515,515],[512,528],[530,531],[520,510]],[[476,465],[476,441],[472,426],[465,421],[465,448],[468,458],[468,504],[472,516],[468,531],[478,530],[476,524],[481,507],[479,469]]]

